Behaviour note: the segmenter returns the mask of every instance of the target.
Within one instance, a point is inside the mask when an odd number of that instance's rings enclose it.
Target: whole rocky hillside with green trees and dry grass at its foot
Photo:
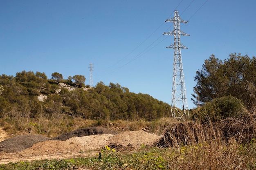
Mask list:
[[[169,104],[147,94],[132,93],[119,84],[99,82],[91,88],[85,86],[82,75],[63,79],[60,73],[53,73],[48,79],[45,73],[22,71],[16,76],[0,75],[0,84],[0,125],[13,134],[25,130],[52,136],[114,120],[170,117]],[[54,126],[62,128],[53,132]]]

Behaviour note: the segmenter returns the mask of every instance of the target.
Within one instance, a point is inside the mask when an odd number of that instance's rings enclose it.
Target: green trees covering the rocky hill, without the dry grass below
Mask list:
[[[70,85],[75,90],[61,86]],[[63,79],[60,73],[53,73],[50,79],[45,73],[22,71],[16,76],[0,75],[3,87],[0,95],[0,118],[15,108],[24,110],[30,107],[30,116],[52,113],[80,116],[84,119],[125,119],[155,120],[169,116],[171,106],[147,94],[131,93],[128,88],[110,83],[99,82],[95,87],[85,86],[83,75]],[[39,95],[47,96],[44,102]],[[25,114],[25,113],[24,113]]]

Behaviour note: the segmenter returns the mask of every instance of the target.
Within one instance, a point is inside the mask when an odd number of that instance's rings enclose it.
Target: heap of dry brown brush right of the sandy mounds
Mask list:
[[[256,120],[253,115],[242,119],[227,118],[222,121],[201,124],[182,122],[168,126],[158,145],[163,147],[202,144],[212,140],[227,143],[235,140],[246,143],[256,138]]]

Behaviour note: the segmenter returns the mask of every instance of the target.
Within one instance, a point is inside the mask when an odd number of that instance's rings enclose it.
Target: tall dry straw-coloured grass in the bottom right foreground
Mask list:
[[[163,157],[173,170],[247,170],[255,169],[255,149],[250,145],[219,141],[168,148]]]

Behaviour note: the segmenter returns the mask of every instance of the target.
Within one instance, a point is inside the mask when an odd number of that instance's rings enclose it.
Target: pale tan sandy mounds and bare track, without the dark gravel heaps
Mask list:
[[[31,136],[33,135],[28,137],[29,140],[31,140]],[[11,139],[13,138],[9,139],[10,142]],[[141,145],[152,145],[158,139],[159,136],[157,135],[139,130],[121,132],[117,135],[76,136],[65,141],[45,140],[37,142],[20,152],[7,153],[0,151],[0,163],[96,156],[104,146],[110,146],[117,151],[122,151],[124,148],[129,148],[129,151],[132,151],[140,148]],[[23,141],[26,141],[26,139],[23,139]]]

